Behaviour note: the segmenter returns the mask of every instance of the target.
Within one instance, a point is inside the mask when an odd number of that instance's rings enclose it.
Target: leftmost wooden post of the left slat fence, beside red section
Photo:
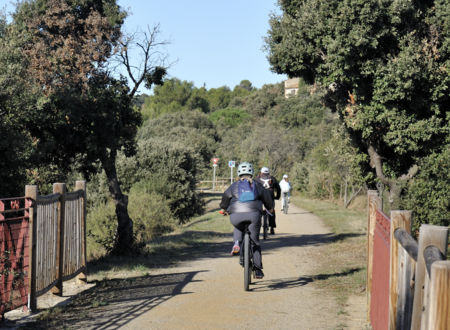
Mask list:
[[[35,185],[25,186],[25,198],[32,200],[32,204],[29,208],[29,248],[30,248],[30,261],[29,261],[29,297],[28,297],[28,309],[36,311],[37,309],[37,297],[36,297],[36,218],[37,207],[36,200],[38,196],[38,189]]]

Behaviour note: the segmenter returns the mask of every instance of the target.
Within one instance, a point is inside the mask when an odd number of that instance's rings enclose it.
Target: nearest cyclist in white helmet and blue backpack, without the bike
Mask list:
[[[253,180],[253,166],[248,162],[239,164],[237,174],[239,180],[233,182],[222,195],[220,208],[225,210],[224,214],[230,214],[230,221],[234,226],[234,246],[231,254],[240,252],[240,243],[243,239],[245,222],[250,221],[250,237],[253,245],[253,263],[255,277],[264,277],[262,271],[261,246],[259,245],[259,231],[261,229],[262,205],[273,212],[274,202],[270,194],[257,181]]]

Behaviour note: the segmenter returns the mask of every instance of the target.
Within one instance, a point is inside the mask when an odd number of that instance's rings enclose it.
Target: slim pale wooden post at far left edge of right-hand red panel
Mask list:
[[[381,206],[381,200],[378,197],[376,190],[369,190],[367,192],[368,202],[368,220],[367,220],[367,321],[370,322],[370,301],[372,292],[372,266],[373,266],[373,236],[375,232],[376,211]]]

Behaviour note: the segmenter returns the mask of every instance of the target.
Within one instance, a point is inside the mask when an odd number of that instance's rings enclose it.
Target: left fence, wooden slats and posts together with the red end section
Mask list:
[[[0,274],[22,274],[20,278],[24,282],[18,286],[13,283],[14,276],[10,276],[11,280],[2,276],[2,287],[8,287],[3,282],[9,281],[9,287],[20,288],[19,295],[12,289],[11,293],[2,294],[2,316],[19,306],[26,308],[27,301],[28,308],[35,310],[38,296],[49,290],[62,295],[63,281],[77,275],[79,279],[86,279],[85,181],[77,181],[75,191],[70,193],[66,191],[64,183],[55,183],[53,194],[47,196],[40,196],[37,186],[26,186],[25,197],[22,199],[25,201],[25,214],[21,218],[20,233],[15,229],[17,233],[12,234],[14,231],[9,229],[11,219],[8,219],[8,223],[6,220],[2,222],[0,212],[1,252],[3,255],[11,255],[12,252],[17,255],[13,262],[1,260]],[[20,203],[20,199],[14,200]],[[20,210],[19,208],[16,212]],[[8,232],[11,233],[3,234]],[[20,284],[20,281],[16,282]],[[17,296],[22,298],[18,300]]]

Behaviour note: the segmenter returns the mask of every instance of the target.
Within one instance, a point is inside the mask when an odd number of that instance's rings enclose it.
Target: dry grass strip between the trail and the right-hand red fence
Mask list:
[[[297,206],[322,218],[324,223],[335,233],[336,239],[321,247],[318,251],[318,272],[320,274],[342,274],[329,276],[315,282],[319,287],[333,294],[340,310],[345,313],[349,297],[361,295],[366,288],[366,233],[367,211],[365,198],[359,198],[354,205],[357,209],[345,209],[330,201],[308,199],[294,196],[292,201]],[[323,255],[330,256],[323,258]]]

